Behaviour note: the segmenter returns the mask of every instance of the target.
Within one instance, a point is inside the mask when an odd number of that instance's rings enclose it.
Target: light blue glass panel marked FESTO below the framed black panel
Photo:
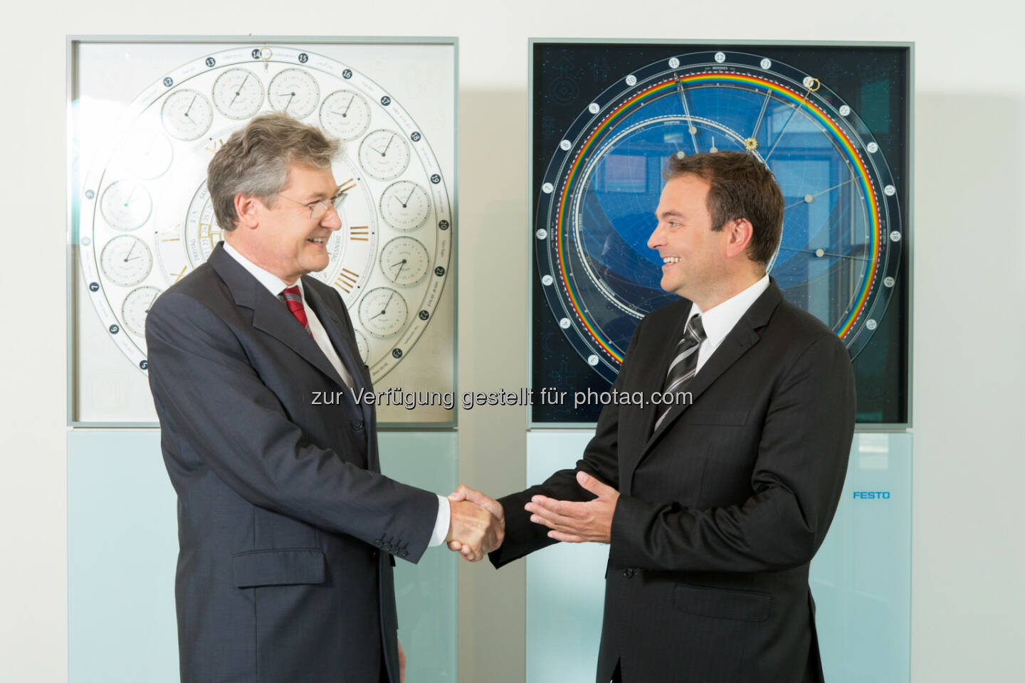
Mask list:
[[[572,467],[591,435],[530,432],[527,482]],[[855,434],[839,508],[810,577],[829,683],[909,680],[910,497],[911,435]],[[594,680],[607,560],[597,544],[528,557],[528,683]]]

